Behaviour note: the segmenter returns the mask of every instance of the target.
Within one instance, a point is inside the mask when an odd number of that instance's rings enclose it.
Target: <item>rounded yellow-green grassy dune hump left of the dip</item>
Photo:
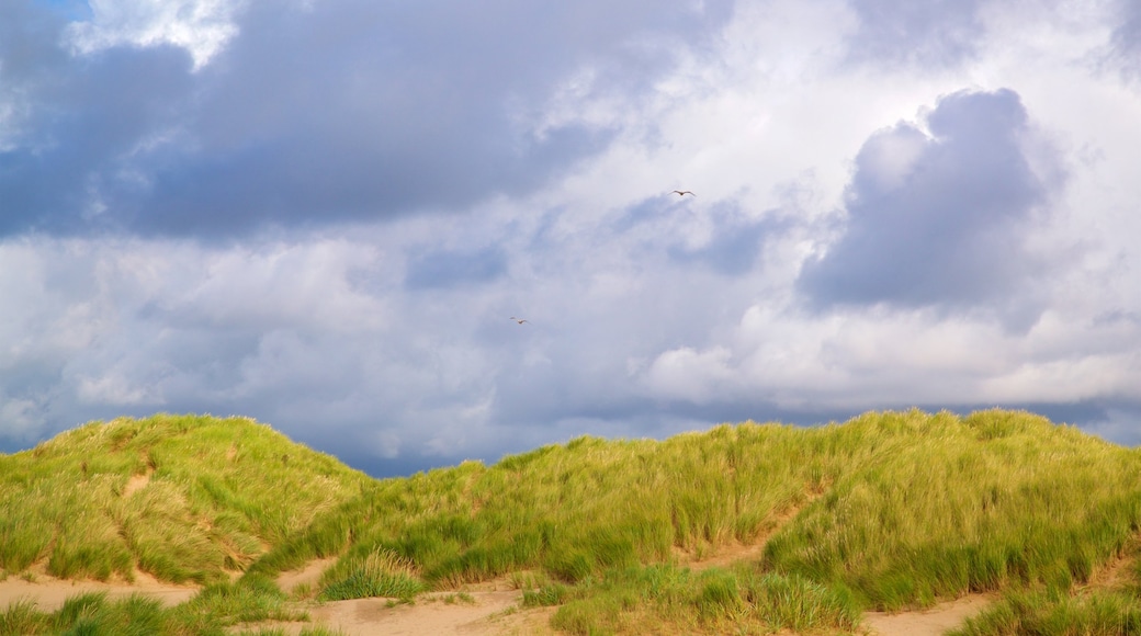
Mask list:
[[[0,455],[0,571],[221,580],[369,481],[248,418],[94,422]]]

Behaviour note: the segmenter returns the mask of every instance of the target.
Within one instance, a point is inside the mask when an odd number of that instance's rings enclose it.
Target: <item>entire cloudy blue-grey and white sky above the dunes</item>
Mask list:
[[[5,0],[0,450],[243,415],[389,476],[912,407],[1136,446],[1139,166],[1134,0]]]

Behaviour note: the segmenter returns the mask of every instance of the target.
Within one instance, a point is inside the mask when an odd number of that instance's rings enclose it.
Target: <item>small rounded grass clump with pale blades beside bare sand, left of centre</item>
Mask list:
[[[387,549],[375,549],[331,568],[322,577],[321,601],[387,596],[408,601],[424,590],[412,562]]]

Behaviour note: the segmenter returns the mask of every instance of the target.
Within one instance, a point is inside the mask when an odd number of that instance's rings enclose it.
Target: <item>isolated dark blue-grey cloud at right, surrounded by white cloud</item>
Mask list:
[[[1035,271],[1025,231],[1050,189],[1020,144],[1018,95],[954,93],[928,127],[933,137],[900,123],[860,149],[844,234],[799,279],[817,307],[970,307]]]

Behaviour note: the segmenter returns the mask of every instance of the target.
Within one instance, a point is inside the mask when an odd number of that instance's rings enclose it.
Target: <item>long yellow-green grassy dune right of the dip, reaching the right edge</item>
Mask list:
[[[434,588],[539,569],[561,586],[556,625],[570,631],[622,631],[647,611],[697,620],[690,629],[845,630],[861,610],[1069,589],[1139,524],[1136,451],[1027,413],[913,410],[661,442],[580,438],[378,482],[253,570],[388,551]],[[747,570],[682,577],[683,593],[645,586],[647,566],[683,566],[769,532]],[[711,585],[735,592],[711,605]],[[800,600],[763,601],[790,595]]]

